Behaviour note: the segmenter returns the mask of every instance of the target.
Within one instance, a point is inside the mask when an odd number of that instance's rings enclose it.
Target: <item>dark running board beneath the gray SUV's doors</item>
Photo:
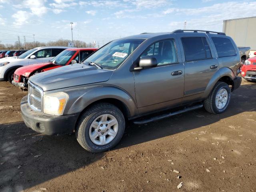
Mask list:
[[[164,118],[167,118],[167,117],[170,117],[170,116],[178,115],[178,114],[181,114],[181,113],[184,113],[184,112],[188,112],[188,111],[192,111],[192,110],[195,110],[195,109],[199,109],[199,108],[202,108],[203,106],[204,106],[203,104],[200,104],[200,105],[184,108],[182,110],[179,110],[179,111],[176,111],[176,112],[173,112],[173,113],[168,113],[168,114],[152,117],[150,119],[134,121],[133,123],[134,124],[145,124],[145,123],[161,120],[161,119],[164,119]]]

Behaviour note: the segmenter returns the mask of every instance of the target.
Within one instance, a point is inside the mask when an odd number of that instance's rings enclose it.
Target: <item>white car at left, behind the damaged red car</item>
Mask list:
[[[56,55],[70,47],[50,46],[30,49],[18,58],[6,57],[0,59],[0,81],[12,83],[14,71],[22,66],[39,64],[52,60]]]

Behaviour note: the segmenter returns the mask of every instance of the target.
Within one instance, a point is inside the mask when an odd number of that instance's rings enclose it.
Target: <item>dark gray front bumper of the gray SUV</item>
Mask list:
[[[79,113],[55,116],[36,112],[28,106],[28,96],[22,98],[20,109],[26,126],[46,135],[72,133],[79,116]]]

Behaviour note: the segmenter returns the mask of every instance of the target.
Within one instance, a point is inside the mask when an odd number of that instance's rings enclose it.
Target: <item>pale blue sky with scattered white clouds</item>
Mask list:
[[[223,20],[256,16],[256,1],[240,0],[0,0],[0,41],[71,39],[101,46],[142,32],[222,31]],[[97,45],[96,44],[96,45]]]

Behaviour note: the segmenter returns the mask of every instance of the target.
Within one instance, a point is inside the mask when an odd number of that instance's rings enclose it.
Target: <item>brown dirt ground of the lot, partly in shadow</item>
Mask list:
[[[200,109],[129,122],[121,142],[99,154],[74,134],[27,128],[20,115],[26,94],[0,82],[0,191],[256,192],[256,83],[243,82],[220,115]]]

